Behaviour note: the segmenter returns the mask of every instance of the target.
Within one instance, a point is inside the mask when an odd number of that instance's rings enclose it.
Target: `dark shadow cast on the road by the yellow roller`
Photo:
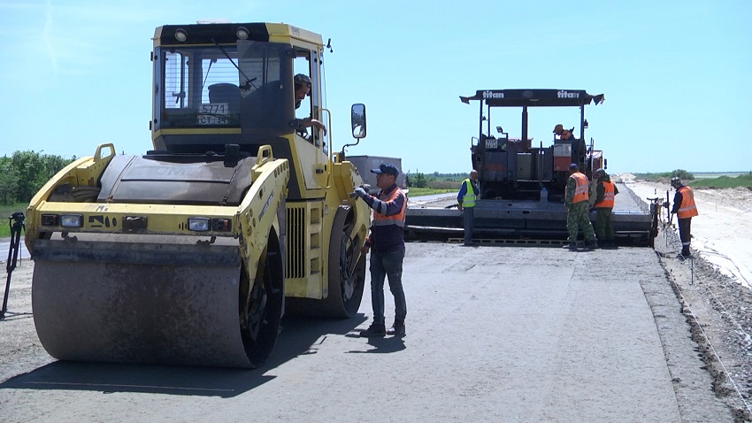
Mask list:
[[[15,376],[0,384],[0,389],[233,397],[272,381],[276,376],[267,374],[269,371],[298,356],[315,354],[316,345],[326,340],[326,336],[347,335],[364,320],[363,314],[352,319],[282,319],[283,329],[272,357],[255,370],[56,361]]]

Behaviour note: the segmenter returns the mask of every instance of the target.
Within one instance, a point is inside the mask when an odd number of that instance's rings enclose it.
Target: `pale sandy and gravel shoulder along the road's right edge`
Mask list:
[[[629,174],[618,179],[642,198],[665,197],[668,189]],[[752,191],[695,188],[694,199],[700,212],[692,219],[694,258],[678,258],[676,220],[668,226],[665,212],[656,254],[714,378],[714,391],[737,421],[752,421]]]

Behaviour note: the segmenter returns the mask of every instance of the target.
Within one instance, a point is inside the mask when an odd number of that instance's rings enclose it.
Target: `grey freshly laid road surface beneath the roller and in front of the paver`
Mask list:
[[[62,363],[2,321],[0,419],[733,421],[653,250],[409,243],[403,281],[406,336],[357,337],[366,292],[356,319],[285,319],[254,371]]]

